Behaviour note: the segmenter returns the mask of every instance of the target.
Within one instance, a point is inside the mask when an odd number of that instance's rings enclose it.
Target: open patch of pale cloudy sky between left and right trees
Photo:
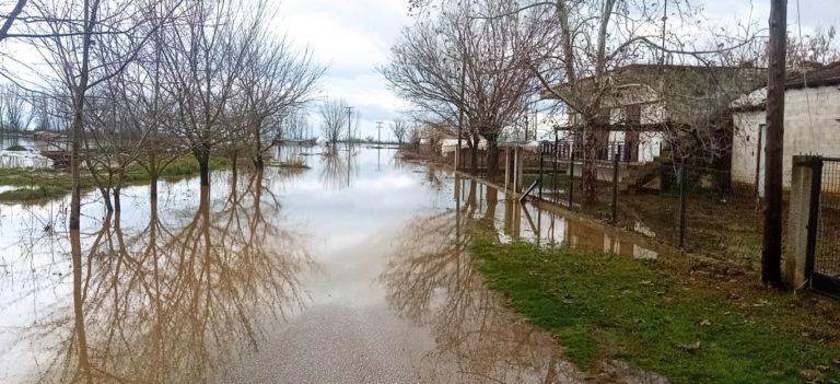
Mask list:
[[[407,0],[283,0],[275,21],[295,44],[308,45],[329,67],[325,95],[345,98],[362,117],[362,137],[375,136],[376,121],[399,115],[401,103],[376,71],[400,30],[411,23]],[[314,108],[313,108],[314,109]],[[318,131],[312,112],[314,131]],[[385,130],[383,139],[387,137]]]

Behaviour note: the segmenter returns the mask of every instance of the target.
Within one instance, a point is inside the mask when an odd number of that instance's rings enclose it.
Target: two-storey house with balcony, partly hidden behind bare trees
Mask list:
[[[723,156],[730,148],[730,103],[759,86],[765,74],[749,66],[630,65],[607,72],[600,84],[582,79],[542,96],[569,106],[569,123],[557,127],[558,139],[578,148],[587,127],[575,109],[595,104],[592,95],[597,95],[599,125],[607,129],[596,133],[596,160],[618,155],[646,163],[666,151],[689,158],[702,150]]]

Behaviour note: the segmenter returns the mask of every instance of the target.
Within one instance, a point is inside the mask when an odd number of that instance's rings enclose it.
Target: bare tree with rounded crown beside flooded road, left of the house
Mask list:
[[[502,0],[475,5],[445,1],[435,19],[404,31],[390,62],[381,69],[397,95],[434,115],[439,127],[453,132],[464,121],[462,135],[474,153],[485,138],[490,177],[498,171],[500,133],[538,89],[532,73],[536,56],[556,44],[537,18],[515,11]],[[474,170],[476,161],[474,155]]]

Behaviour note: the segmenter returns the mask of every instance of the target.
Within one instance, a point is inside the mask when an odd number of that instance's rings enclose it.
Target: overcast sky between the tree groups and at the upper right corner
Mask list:
[[[817,25],[840,21],[840,0],[798,1],[805,34]],[[791,33],[797,33],[796,2],[789,0]],[[734,24],[750,15],[766,23],[770,13],[770,0],[703,3],[705,15],[719,23]],[[377,120],[389,121],[399,115],[404,106],[387,90],[376,68],[387,61],[400,30],[411,23],[407,0],[283,0],[275,23],[279,33],[285,31],[296,44],[308,45],[315,57],[329,66],[324,92],[343,97],[361,113],[363,137],[375,136]],[[313,124],[317,131],[317,120]]]

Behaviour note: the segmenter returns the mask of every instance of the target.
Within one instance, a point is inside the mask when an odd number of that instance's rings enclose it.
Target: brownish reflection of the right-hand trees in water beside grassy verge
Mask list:
[[[438,351],[429,358],[443,363],[442,375],[446,362],[455,361],[458,381],[569,382],[571,370],[558,359],[553,340],[506,310],[474,268],[467,245],[493,213],[474,218],[475,185],[467,196],[454,212],[415,219],[404,230],[399,256],[382,276],[390,305],[431,327]]]

